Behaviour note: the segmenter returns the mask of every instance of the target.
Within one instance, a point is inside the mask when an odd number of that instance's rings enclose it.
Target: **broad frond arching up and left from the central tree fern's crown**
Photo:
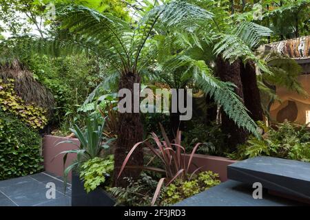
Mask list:
[[[101,14],[81,5],[70,5],[59,14],[61,28],[68,29],[72,34],[87,36],[105,45],[108,50],[118,54],[123,66],[130,65],[130,54],[124,45],[128,34],[132,32],[129,23],[110,14]]]

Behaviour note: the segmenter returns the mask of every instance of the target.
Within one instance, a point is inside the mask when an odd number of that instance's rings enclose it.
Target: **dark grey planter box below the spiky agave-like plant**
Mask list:
[[[102,188],[86,192],[79,175],[72,174],[72,206],[114,206],[116,201]]]

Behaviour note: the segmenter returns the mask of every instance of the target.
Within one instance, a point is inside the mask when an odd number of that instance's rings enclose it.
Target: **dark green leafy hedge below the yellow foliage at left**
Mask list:
[[[0,110],[0,180],[41,171],[40,149],[38,133]]]

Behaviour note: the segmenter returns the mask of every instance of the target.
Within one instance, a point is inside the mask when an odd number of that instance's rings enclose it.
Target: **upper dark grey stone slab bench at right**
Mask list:
[[[275,157],[253,157],[227,166],[227,177],[245,184],[310,201],[310,163]]]

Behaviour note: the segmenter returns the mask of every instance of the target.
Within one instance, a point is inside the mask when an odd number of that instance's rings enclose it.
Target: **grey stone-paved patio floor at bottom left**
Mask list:
[[[54,199],[48,199],[46,184],[54,183]],[[71,206],[71,184],[64,193],[63,177],[43,172],[0,181],[0,206]]]

